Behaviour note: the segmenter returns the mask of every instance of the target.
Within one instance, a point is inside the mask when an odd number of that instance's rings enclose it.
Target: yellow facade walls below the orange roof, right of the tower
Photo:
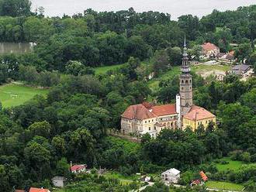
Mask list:
[[[199,125],[203,125],[206,129],[209,125],[209,122],[213,122],[214,124],[216,124],[216,118],[205,118],[201,120],[190,120],[188,118],[183,118],[183,129],[190,127],[192,131],[195,131],[195,129],[197,129]]]

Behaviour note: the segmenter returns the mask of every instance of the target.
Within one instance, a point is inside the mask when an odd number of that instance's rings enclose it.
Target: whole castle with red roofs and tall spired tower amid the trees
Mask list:
[[[182,58],[182,74],[179,77],[179,94],[175,104],[130,105],[121,115],[121,132],[123,134],[136,134],[142,136],[149,133],[151,137],[157,137],[162,129],[186,129],[192,131],[199,125],[206,128],[209,122],[216,123],[216,116],[205,108],[193,105],[192,75],[190,74],[189,57],[186,43]]]

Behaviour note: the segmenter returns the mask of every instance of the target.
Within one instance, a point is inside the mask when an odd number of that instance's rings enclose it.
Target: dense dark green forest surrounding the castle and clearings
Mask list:
[[[230,153],[256,162],[255,78],[243,82],[230,75],[223,82],[209,82],[193,74],[195,104],[217,115],[216,129],[209,125],[196,132],[164,130],[157,139],[145,135],[140,148],[133,151],[108,137],[109,129],[119,129],[119,116],[127,106],[152,98],[159,103],[175,98],[178,77],[161,81],[160,90],[153,93],[147,74],[154,71],[159,77],[180,65],[185,34],[191,55],[204,42],[216,43],[223,52],[233,48],[230,43],[238,43],[237,59],[256,66],[256,5],[214,10],[202,19],[182,15],[177,22],[168,14],[138,13],[132,8],[120,12],[87,9],[48,18],[43,8],[31,12],[30,6],[28,0],[0,0],[0,40],[36,43],[32,53],[1,56],[0,82],[23,81],[50,87],[50,92],[47,98],[38,95],[24,105],[0,108],[1,191],[50,188],[55,175],[74,180],[68,170],[70,161],[126,175],[169,167],[193,170]],[[95,75],[93,67],[118,63],[126,65]],[[211,167],[202,169],[211,171]],[[213,179],[220,178],[212,172]],[[256,188],[255,172],[256,167],[250,166],[239,173],[222,173],[221,178],[247,183],[250,191]],[[130,190],[119,187],[116,180],[112,184],[94,177],[84,180],[103,183],[109,191]]]

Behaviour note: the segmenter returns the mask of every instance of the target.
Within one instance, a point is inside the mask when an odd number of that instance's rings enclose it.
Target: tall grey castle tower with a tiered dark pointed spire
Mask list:
[[[184,40],[184,52],[182,58],[182,74],[180,75],[181,113],[185,115],[193,105],[192,75],[190,74],[189,57]]]

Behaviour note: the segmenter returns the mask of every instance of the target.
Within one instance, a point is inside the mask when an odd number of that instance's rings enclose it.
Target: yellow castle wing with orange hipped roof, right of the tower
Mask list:
[[[216,124],[216,116],[207,111],[205,108],[195,105],[192,106],[189,113],[183,117],[183,127],[190,127],[192,131],[195,131],[199,125],[203,125],[206,129],[210,122]]]

